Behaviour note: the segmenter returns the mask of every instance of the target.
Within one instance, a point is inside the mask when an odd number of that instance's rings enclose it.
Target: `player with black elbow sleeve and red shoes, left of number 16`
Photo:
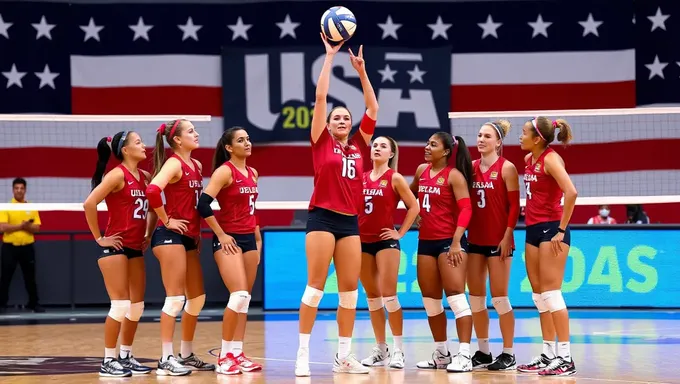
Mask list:
[[[248,313],[260,256],[255,239],[258,175],[246,165],[251,151],[245,129],[234,127],[224,131],[215,149],[210,183],[198,200],[198,212],[214,232],[215,262],[231,292],[222,319],[222,350],[216,368],[226,375],[262,369],[243,355],[242,344],[237,353],[233,345],[239,318]],[[210,208],[214,199],[220,205],[217,216]]]

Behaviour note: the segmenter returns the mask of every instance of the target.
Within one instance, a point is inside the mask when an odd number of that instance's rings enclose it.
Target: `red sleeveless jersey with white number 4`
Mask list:
[[[421,240],[444,240],[453,238],[458,220],[458,205],[449,185],[452,167],[445,167],[435,175],[430,175],[432,165],[428,165],[418,181],[418,200],[420,201]]]

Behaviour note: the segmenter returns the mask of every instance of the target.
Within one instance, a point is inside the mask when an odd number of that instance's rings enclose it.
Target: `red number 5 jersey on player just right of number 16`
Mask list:
[[[359,213],[359,234],[364,243],[381,241],[383,228],[394,228],[394,211],[399,204],[399,194],[392,186],[393,169],[388,169],[377,180],[371,180],[371,171],[364,173],[364,209]]]

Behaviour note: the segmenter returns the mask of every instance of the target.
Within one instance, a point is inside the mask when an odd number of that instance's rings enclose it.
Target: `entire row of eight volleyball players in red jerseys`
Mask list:
[[[418,368],[468,372],[487,367],[517,368],[541,375],[575,373],[569,351],[568,313],[560,289],[576,190],[564,162],[549,148],[557,129],[559,141],[570,141],[567,122],[536,117],[522,127],[520,136],[520,144],[528,152],[524,170],[526,266],[540,313],[544,345],[539,357],[516,367],[512,353],[514,316],[507,285],[514,248],[512,233],[519,215],[519,178],[515,166],[500,156],[510,124],[495,121],[480,128],[477,148],[481,158],[474,162],[461,137],[446,132],[432,135],[425,147],[425,163],[408,185],[396,172],[397,143],[384,136],[373,139],[378,102],[366,74],[363,48],[357,55],[350,50],[366,104],[359,130],[350,135],[352,116],[346,108],[335,107],[327,114],[331,65],[342,44],[331,46],[323,36],[322,41],[326,57],[317,83],[310,137],[314,191],[305,239],[308,280],[300,305],[295,375],[310,375],[311,331],[331,260],[339,292],[339,342],[333,371],[368,373],[367,367],[379,365],[404,368],[403,316],[396,297],[399,239],[416,220],[418,283],[435,341],[432,359],[418,362]],[[245,129],[226,130],[217,144],[210,182],[203,188],[203,166],[191,158],[191,151],[199,146],[198,137],[187,120],[161,125],[153,175],[137,167],[146,158],[144,143],[137,133],[119,132],[98,145],[93,190],[84,207],[92,234],[102,247],[99,266],[111,298],[100,375],[125,377],[151,371],[134,359],[131,348],[144,307],[144,265],[139,256],[148,246],[159,260],[166,290],[160,321],[162,356],[156,373],[178,376],[192,370],[215,370],[238,374],[262,369],[242,349],[261,244],[255,216],[258,173],[246,165],[252,145]],[[165,142],[173,152],[167,159]],[[121,164],[104,175],[111,154]],[[364,172],[366,157],[370,157],[373,167]],[[564,208],[560,205],[562,195]],[[218,212],[210,208],[215,199],[220,206]],[[109,222],[102,236],[96,206],[103,200],[108,206]],[[394,211],[400,200],[408,212],[397,231]],[[201,218],[214,233],[215,261],[231,292],[216,365],[201,361],[191,348],[197,316],[205,302],[198,261]],[[487,270],[504,340],[503,353],[495,360],[488,344]],[[361,362],[351,353],[360,280],[367,293],[372,324],[382,324],[374,326],[377,345],[371,356]],[[456,318],[460,345],[455,354],[447,344],[442,292]],[[175,357],[174,324],[182,309],[182,342]],[[385,343],[384,310],[394,339],[391,351]],[[473,324],[479,350],[471,355]],[[119,333],[121,346],[117,354]]]

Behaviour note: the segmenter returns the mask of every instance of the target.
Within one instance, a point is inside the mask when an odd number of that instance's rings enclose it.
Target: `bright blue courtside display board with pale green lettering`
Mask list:
[[[509,297],[514,307],[534,307],[524,265],[524,230],[515,231]],[[570,307],[680,307],[680,230],[572,229],[562,291]],[[307,284],[304,231],[265,231],[264,309],[297,310]],[[397,292],[404,308],[422,308],[416,278],[418,232],[401,240]],[[337,278],[329,270],[319,308],[338,305]],[[366,309],[359,288],[358,308]],[[487,292],[490,292],[487,289]],[[491,307],[491,298],[488,306]],[[446,306],[446,303],[445,303]]]

